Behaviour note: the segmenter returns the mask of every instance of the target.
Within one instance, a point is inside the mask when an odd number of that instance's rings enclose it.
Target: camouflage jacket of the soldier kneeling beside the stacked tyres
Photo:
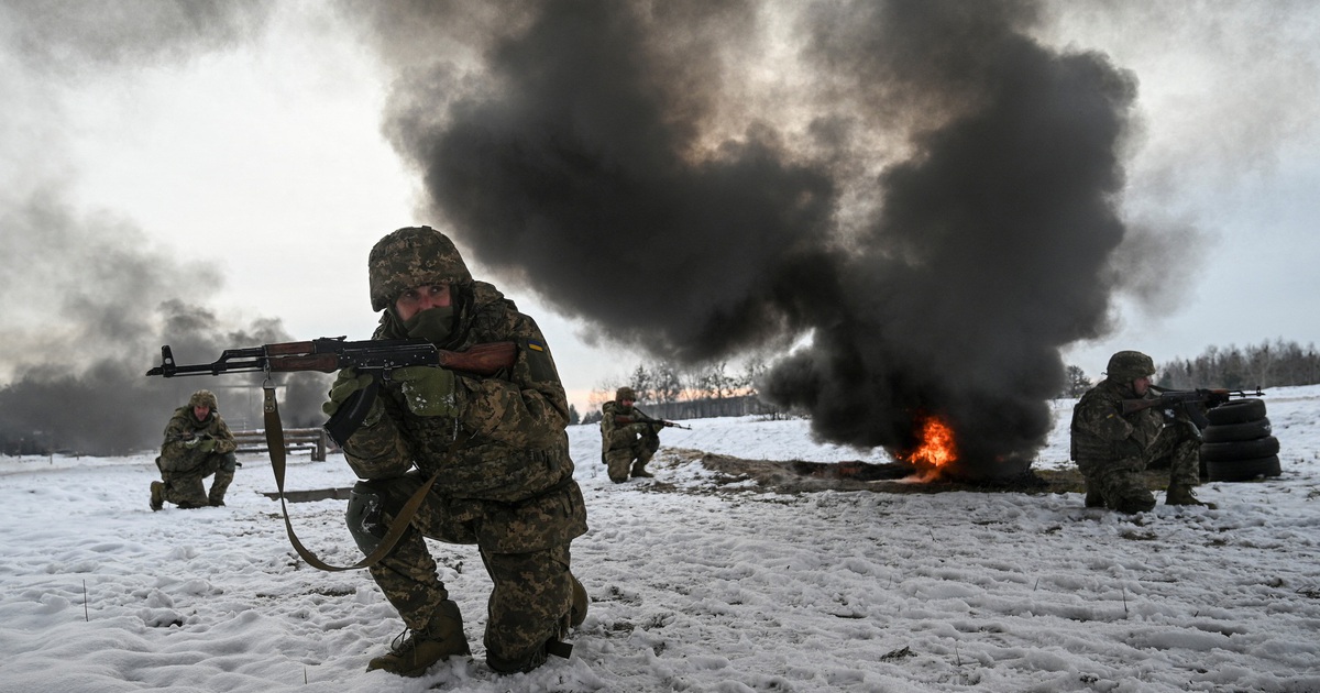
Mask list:
[[[1155,397],[1147,392],[1146,399]],[[1135,457],[1146,450],[1164,428],[1156,408],[1123,413],[1123,400],[1138,399],[1130,383],[1105,379],[1086,391],[1073,407],[1072,458],[1078,466]],[[1133,445],[1135,444],[1135,446]]]

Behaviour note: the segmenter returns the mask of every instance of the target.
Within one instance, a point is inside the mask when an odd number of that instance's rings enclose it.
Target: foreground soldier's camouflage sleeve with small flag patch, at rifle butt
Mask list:
[[[536,322],[520,313],[508,338],[517,343],[508,379],[458,376],[459,420],[467,430],[503,444],[557,445],[569,424],[569,404],[550,347]]]

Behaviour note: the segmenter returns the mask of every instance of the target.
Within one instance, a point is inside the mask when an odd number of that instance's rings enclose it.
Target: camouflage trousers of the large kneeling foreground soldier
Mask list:
[[[372,494],[380,499],[379,519],[374,520],[379,536],[384,536],[395,515],[403,508],[412,494],[425,483],[416,471],[387,480],[358,482],[354,492]],[[576,486],[574,486],[576,490]],[[578,491],[577,498],[581,499]],[[436,572],[436,560],[426,548],[424,537],[447,544],[475,544],[490,576],[494,589],[487,601],[486,620],[486,660],[498,672],[516,672],[535,668],[545,661],[546,643],[564,638],[569,627],[569,610],[573,601],[573,576],[569,572],[569,540],[549,541],[545,548],[535,550],[510,552],[499,541],[490,540],[491,523],[488,506],[492,502],[447,499],[432,492],[413,516],[412,525],[385,558],[371,566],[368,572],[376,581],[385,599],[412,630],[422,630],[430,623],[432,614],[440,603],[449,599],[449,590]],[[350,502],[350,508],[352,502]],[[500,512],[510,506],[499,503]],[[553,504],[552,504],[553,506]],[[515,517],[511,527],[517,532],[519,523],[545,524],[544,507],[528,507],[524,517]],[[350,510],[350,529],[354,523]],[[360,519],[356,521],[360,523]],[[550,520],[558,521],[558,520]],[[562,524],[562,523],[561,523]],[[362,545],[360,529],[355,532]],[[545,535],[541,541],[545,544]]]

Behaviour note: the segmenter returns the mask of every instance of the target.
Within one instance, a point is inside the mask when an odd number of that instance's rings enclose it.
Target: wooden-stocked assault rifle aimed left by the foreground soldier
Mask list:
[[[376,391],[383,380],[389,380],[395,368],[407,366],[438,366],[453,371],[492,375],[513,364],[517,350],[513,342],[477,345],[467,351],[445,351],[426,339],[368,339],[346,342],[343,337],[322,337],[310,342],[284,342],[251,348],[226,348],[211,363],[180,366],[169,345],[161,347],[161,364],[147,371],[148,376],[176,378],[181,375],[220,375],[242,372],[297,372],[319,371],[333,374],[342,368],[356,368],[371,374],[371,384],[354,392],[325,424],[334,442],[343,445],[362,425]]]

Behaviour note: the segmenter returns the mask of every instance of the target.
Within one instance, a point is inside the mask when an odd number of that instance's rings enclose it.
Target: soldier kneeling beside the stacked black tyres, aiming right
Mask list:
[[[1155,507],[1142,473],[1168,461],[1168,506],[1209,506],[1192,495],[1200,483],[1201,436],[1185,412],[1166,420],[1156,408],[1123,413],[1125,399],[1154,397],[1155,362],[1140,351],[1110,356],[1106,378],[1077,401],[1072,458],[1086,479],[1086,507],[1144,512]]]

